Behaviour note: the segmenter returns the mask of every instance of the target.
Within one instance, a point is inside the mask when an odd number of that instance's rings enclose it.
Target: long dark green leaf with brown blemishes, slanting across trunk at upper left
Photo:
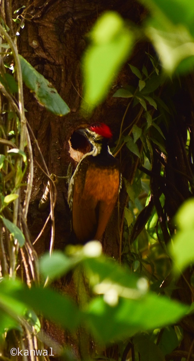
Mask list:
[[[35,93],[36,99],[47,110],[58,115],[64,116],[70,112],[69,106],[57,93],[56,89],[47,79],[33,68],[21,55],[19,60],[22,68],[22,78],[26,86]]]

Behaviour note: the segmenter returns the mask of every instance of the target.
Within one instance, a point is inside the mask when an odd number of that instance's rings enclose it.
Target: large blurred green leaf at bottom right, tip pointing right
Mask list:
[[[85,322],[100,342],[107,343],[175,323],[187,310],[188,306],[151,292],[139,299],[120,298],[115,306],[96,298],[86,310]]]

